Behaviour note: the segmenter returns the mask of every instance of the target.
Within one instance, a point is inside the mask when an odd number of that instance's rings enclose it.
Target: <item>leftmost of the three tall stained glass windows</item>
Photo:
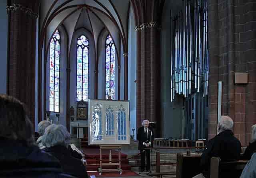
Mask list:
[[[49,110],[60,110],[60,32],[55,31],[50,43],[50,89]]]

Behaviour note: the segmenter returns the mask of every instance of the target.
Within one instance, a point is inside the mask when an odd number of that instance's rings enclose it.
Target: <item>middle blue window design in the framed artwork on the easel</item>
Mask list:
[[[114,110],[111,106],[106,108],[106,137],[114,136]]]

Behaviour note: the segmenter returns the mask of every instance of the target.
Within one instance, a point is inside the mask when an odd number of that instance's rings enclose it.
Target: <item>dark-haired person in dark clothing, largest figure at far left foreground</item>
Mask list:
[[[0,94],[0,142],[0,177],[65,177],[59,161],[35,145],[23,104],[4,94]]]

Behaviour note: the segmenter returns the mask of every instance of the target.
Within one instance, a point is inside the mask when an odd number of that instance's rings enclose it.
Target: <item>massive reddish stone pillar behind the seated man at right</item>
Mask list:
[[[223,82],[222,115],[234,120],[234,134],[248,145],[256,123],[255,0],[208,0],[209,132],[216,135],[217,82]],[[234,73],[248,73],[248,84],[234,84]]]

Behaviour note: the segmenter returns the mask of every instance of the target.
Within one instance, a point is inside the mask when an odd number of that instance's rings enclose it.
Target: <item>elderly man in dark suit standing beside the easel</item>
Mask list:
[[[147,172],[150,171],[150,150],[144,150],[145,147],[153,147],[154,134],[148,129],[149,121],[144,120],[142,127],[138,129],[137,140],[139,141],[138,149],[140,150],[140,171],[144,172],[145,157],[147,157]]]

